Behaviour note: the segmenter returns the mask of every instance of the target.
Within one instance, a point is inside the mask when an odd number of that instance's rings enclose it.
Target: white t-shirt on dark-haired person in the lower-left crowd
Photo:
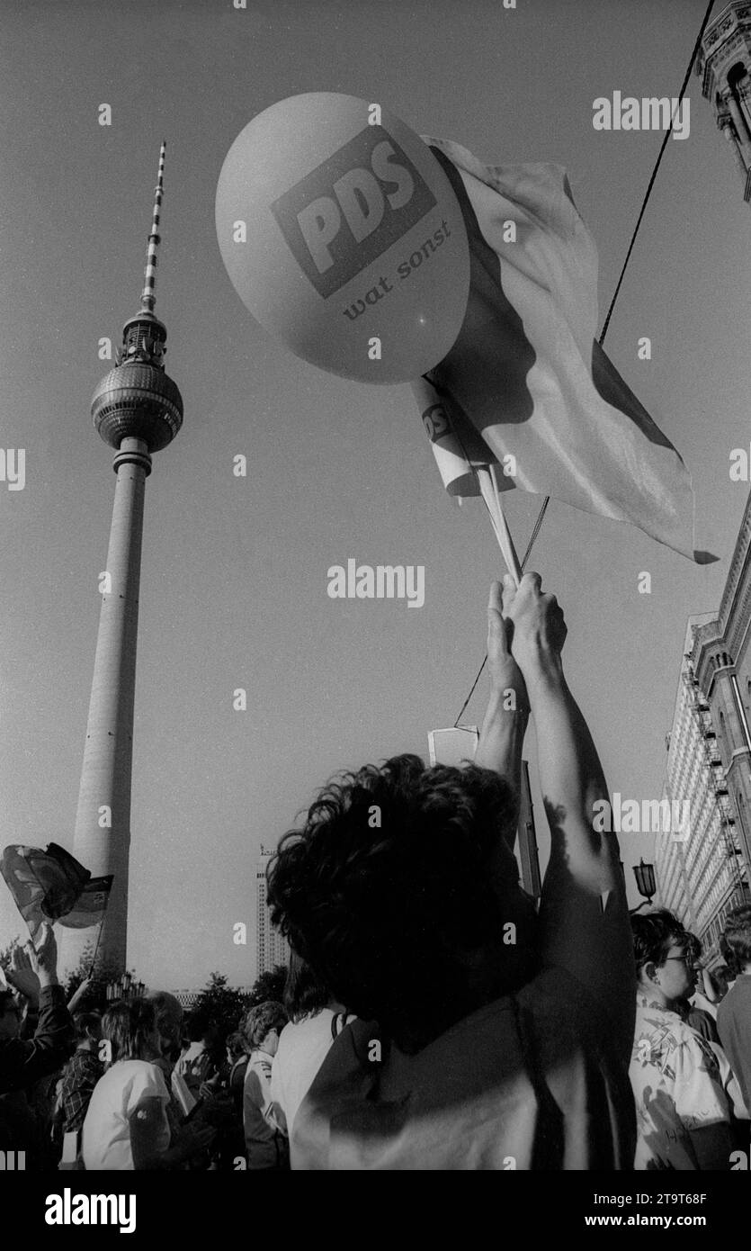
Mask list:
[[[162,1127],[157,1146],[166,1151],[170,1145],[166,1116],[170,1093],[161,1071],[145,1060],[120,1060],[100,1077],[89,1103],[81,1140],[87,1170],[132,1170],[127,1118],[144,1098],[161,1100]]]

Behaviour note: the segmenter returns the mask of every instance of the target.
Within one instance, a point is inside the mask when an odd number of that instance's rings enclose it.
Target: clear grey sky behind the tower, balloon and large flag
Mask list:
[[[600,249],[604,317],[662,135],[596,131],[592,101],[677,95],[704,9],[5,0],[0,445],[26,449],[26,484],[0,482],[0,846],[72,843],[115,484],[89,404],[107,369],[97,340],[119,342],[137,309],[167,140],[156,311],[185,424],[146,487],[129,963],[147,983],[252,981],[260,843],[335,769],[425,754],[427,731],[454,723],[501,572],[482,505],[444,492],[409,388],[321,373],[239,300],[214,224],[227,149],[276,100],[326,90],[490,163],[564,164]],[[719,605],[747,493],[729,454],[751,429],[749,208],[695,76],[689,98],[606,347],[692,473],[697,547],[720,562],[694,567],[555,502],[530,562],[566,610],[570,683],[610,789],[634,798],[661,794],[686,618]],[[521,550],[539,504],[509,502]],[[329,598],[327,568],[350,557],[424,565],[425,605]],[[485,697],[481,683],[465,722]],[[545,862],[540,804],[537,818]],[[627,864],[651,853],[647,837],[624,843]],[[19,932],[2,889],[0,946]]]

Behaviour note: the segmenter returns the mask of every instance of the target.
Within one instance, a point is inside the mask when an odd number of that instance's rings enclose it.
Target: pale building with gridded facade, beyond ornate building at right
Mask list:
[[[692,661],[696,634],[712,619],[711,613],[689,618],[664,791],[669,803],[687,804],[689,821],[656,836],[655,873],[657,902],[675,912],[701,938],[705,956],[716,961],[725,914],[745,898],[746,878],[710,706]]]

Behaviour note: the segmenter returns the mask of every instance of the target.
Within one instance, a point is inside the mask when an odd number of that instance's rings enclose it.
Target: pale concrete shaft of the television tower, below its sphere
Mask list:
[[[109,589],[105,584],[101,595],[74,856],[92,877],[114,874],[99,952],[105,963],[122,971],[141,538],[145,484],[151,469],[146,444],[124,439],[114,468],[117,479],[106,563]],[[69,931],[69,968],[77,963],[91,934],[91,929]]]

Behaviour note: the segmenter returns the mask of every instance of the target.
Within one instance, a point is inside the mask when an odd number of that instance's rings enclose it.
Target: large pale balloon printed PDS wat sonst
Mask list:
[[[254,118],[221,169],[216,233],[254,317],[331,373],[409,382],[459,335],[459,201],[427,144],[365,100],[316,91]]]

